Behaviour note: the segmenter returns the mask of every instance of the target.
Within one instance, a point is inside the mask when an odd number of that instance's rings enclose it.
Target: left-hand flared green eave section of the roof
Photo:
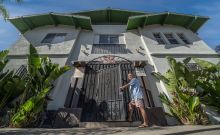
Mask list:
[[[58,13],[47,13],[31,16],[22,16],[10,18],[9,21],[21,32],[25,33],[28,30],[46,25],[71,25],[81,27],[83,29],[92,30],[90,17],[80,15],[68,15]]]

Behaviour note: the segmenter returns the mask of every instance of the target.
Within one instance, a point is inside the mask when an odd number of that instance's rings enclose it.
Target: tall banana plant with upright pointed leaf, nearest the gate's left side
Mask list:
[[[26,89],[23,93],[23,105],[11,119],[11,126],[26,127],[36,124],[40,114],[47,104],[48,94],[53,88],[54,81],[64,72],[70,69],[69,66],[59,67],[48,57],[41,58],[36,49],[30,45],[27,65]]]

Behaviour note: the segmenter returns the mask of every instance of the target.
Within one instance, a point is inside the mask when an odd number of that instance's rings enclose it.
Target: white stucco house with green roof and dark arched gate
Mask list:
[[[167,71],[166,56],[177,60],[195,56],[217,63],[218,54],[197,34],[208,19],[110,8],[10,18],[21,36],[9,49],[6,68],[21,70],[26,65],[29,44],[40,56],[72,66],[55,82],[48,110],[77,113],[81,122],[126,121],[130,95],[119,87],[128,83],[128,73],[135,73],[145,107],[160,121],[162,110],[167,110],[158,95],[168,92],[151,73]],[[191,67],[195,68],[193,63]],[[133,119],[140,120],[137,110]],[[167,122],[175,123],[169,118]]]

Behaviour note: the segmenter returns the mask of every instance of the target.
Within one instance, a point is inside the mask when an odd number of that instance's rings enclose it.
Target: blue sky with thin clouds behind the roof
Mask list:
[[[177,12],[202,15],[210,20],[198,31],[211,48],[220,45],[220,0],[12,0],[4,3],[10,17],[58,12],[68,13],[82,10],[119,8],[144,12]],[[0,50],[8,49],[19,38],[19,31],[0,18]]]

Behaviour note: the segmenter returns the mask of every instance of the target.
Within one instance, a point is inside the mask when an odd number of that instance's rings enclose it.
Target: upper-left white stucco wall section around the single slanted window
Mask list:
[[[73,26],[44,26],[27,31],[24,37],[36,47],[39,54],[69,54],[79,31]],[[67,35],[64,42],[49,46],[41,43],[48,33],[67,33]]]

